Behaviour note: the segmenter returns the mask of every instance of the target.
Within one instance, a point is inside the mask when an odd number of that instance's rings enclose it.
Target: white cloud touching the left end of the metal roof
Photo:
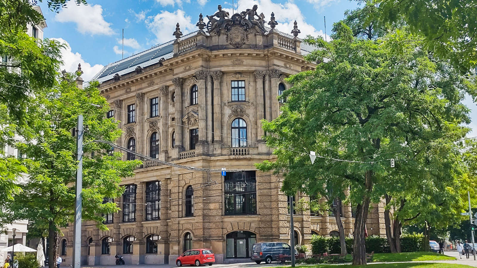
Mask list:
[[[95,74],[97,74],[101,69],[103,69],[103,65],[101,64],[94,64],[91,66],[88,62],[85,62],[83,57],[78,52],[72,52],[70,44],[62,38],[52,38],[53,40],[57,40],[60,43],[67,45],[66,48],[61,50],[62,54],[62,61],[63,64],[61,66],[61,70],[66,70],[67,72],[75,72],[78,69],[78,63],[81,63],[81,70],[83,71],[83,80],[90,81]]]

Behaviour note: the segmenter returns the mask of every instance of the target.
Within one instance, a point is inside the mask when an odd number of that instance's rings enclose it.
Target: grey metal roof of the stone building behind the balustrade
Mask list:
[[[271,30],[268,27],[265,28],[267,32]],[[195,35],[197,34],[197,32],[198,31],[190,32],[182,36],[181,39],[185,39],[189,36]],[[293,36],[291,36],[290,34],[286,34],[281,31],[279,31],[279,33],[280,35],[293,39]],[[124,75],[126,73],[134,72],[137,66],[145,68],[147,66],[156,64],[160,61],[161,58],[164,58],[165,60],[170,59],[173,57],[174,54],[174,41],[175,39],[163,44],[158,44],[143,52],[121,59],[117,62],[109,63],[108,65],[104,66],[104,68],[99,73],[97,73],[91,80],[97,80],[99,82],[108,81],[113,79],[116,73],[118,73],[119,75]],[[304,43],[301,43],[300,48],[301,55],[303,56],[309,54],[311,51],[316,49]]]

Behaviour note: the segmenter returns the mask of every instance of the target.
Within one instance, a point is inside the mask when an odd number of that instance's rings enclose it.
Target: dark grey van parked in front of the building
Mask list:
[[[262,261],[269,264],[274,260],[278,260],[279,255],[290,256],[290,245],[281,242],[264,242],[255,243],[252,247],[250,259],[259,264]]]

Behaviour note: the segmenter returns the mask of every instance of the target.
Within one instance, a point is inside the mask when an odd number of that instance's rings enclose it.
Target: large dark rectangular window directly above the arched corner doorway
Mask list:
[[[255,171],[227,172],[225,176],[225,214],[257,214]]]

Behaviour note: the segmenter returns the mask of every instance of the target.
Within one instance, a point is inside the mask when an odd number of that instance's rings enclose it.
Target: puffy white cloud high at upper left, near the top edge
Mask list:
[[[83,34],[114,34],[113,29],[111,29],[111,23],[104,21],[101,5],[77,6],[74,1],[70,1],[66,7],[56,14],[56,21],[74,22],[76,23],[76,30]]]

